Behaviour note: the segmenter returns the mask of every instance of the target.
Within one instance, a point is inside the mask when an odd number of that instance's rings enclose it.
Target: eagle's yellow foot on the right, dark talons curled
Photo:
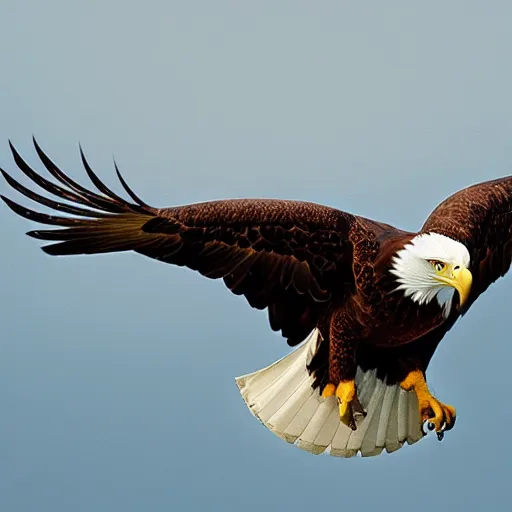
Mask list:
[[[441,441],[444,433],[455,425],[456,412],[451,405],[446,405],[435,398],[429,391],[423,372],[415,370],[409,373],[400,384],[403,389],[414,389],[418,397],[420,422],[428,421],[428,429],[435,430]]]

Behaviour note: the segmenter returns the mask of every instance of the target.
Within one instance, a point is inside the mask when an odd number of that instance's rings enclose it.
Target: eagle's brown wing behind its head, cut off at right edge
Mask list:
[[[512,261],[512,176],[468,187],[441,203],[422,232],[434,231],[466,245],[472,292],[465,311]]]

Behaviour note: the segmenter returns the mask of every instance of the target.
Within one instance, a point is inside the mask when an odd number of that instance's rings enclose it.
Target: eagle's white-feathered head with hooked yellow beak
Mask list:
[[[420,305],[437,299],[448,317],[455,291],[461,306],[469,296],[473,280],[469,259],[460,242],[438,233],[418,235],[393,257],[391,273],[400,283],[396,290]]]

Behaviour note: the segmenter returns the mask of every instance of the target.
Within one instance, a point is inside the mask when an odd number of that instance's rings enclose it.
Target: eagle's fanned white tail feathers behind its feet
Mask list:
[[[341,423],[336,398],[323,399],[312,388],[306,365],[321,338],[315,329],[288,356],[254,373],[238,377],[236,383],[250,411],[274,434],[314,454],[326,450],[334,456],[364,457],[384,449],[398,450],[405,442],[423,437],[418,400],[399,384],[392,386],[377,378],[376,370],[358,368],[356,386],[366,417],[356,430]]]

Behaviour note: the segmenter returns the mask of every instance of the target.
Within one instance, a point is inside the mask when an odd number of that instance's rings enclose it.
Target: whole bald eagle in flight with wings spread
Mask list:
[[[50,255],[135,251],[223,279],[293,352],[238,377],[251,412],[309,452],[352,457],[392,452],[453,428],[454,407],[426,382],[444,335],[503,276],[512,259],[512,177],[473,185],[441,203],[417,233],[318,204],[270,199],[154,208],[116,173],[123,198],[81,159],[95,191],[62,172],[34,140],[49,173],[12,145],[19,169],[51,199],[2,170],[29,199],[70,215],[39,213],[1,196],[15,213],[58,229]]]

